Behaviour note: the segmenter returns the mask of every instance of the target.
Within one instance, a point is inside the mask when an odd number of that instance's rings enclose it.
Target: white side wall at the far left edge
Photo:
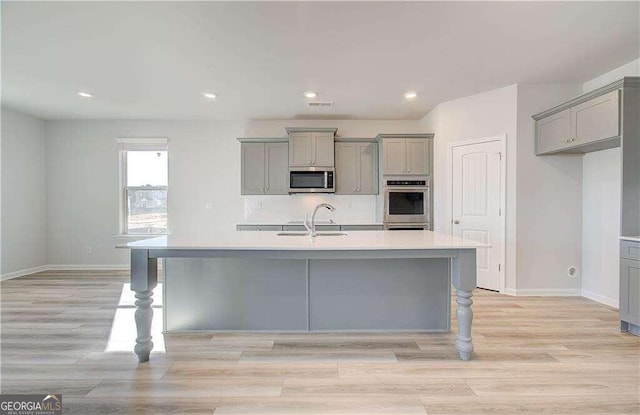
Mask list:
[[[47,263],[44,121],[2,108],[2,278]]]

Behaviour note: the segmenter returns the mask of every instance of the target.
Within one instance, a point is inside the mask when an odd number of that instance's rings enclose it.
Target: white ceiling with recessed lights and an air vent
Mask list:
[[[418,119],[632,61],[639,16],[639,2],[5,1],[2,100],[45,119]],[[334,107],[307,108],[306,90]]]

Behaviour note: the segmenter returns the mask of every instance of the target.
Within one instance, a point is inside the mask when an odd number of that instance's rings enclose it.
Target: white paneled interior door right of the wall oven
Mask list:
[[[500,141],[452,147],[452,224],[454,236],[484,242],[477,250],[477,285],[500,291]]]

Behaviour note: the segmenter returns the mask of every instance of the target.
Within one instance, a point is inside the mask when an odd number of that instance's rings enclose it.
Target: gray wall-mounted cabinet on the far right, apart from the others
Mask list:
[[[587,153],[620,145],[620,90],[610,87],[533,116],[536,154]]]

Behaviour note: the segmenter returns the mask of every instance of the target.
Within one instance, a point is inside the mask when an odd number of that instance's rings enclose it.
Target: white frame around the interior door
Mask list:
[[[447,153],[447,191],[449,192],[449,209],[447,210],[447,229],[449,235],[453,235],[453,149],[456,147],[473,146],[476,144],[485,144],[496,141],[500,143],[500,220],[498,223],[498,254],[500,256],[500,270],[498,271],[498,286],[500,293],[504,293],[506,289],[506,240],[507,240],[507,135],[500,134],[491,137],[483,137],[471,140],[462,140],[449,143],[449,151]]]

